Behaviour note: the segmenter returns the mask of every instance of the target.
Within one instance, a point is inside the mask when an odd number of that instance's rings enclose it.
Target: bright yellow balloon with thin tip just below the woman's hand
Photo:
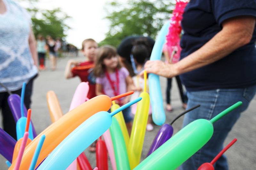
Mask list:
[[[130,167],[133,169],[140,163],[140,156],[148,122],[149,95],[146,92],[147,73],[144,71],[144,92],[140,93],[142,100],[138,103],[133,120],[131,139],[128,147]]]

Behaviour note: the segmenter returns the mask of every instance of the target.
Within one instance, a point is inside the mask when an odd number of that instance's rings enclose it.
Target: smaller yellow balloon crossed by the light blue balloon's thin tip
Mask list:
[[[119,107],[120,106],[118,104],[116,104],[115,101],[112,101],[111,112],[113,112],[114,110],[118,109]],[[123,112],[122,111],[119,112],[118,114],[114,115],[114,117],[116,118],[118,124],[120,125],[122,134],[124,136],[125,146],[126,146],[126,149],[128,150],[128,145],[129,145],[130,137],[129,137],[129,133],[128,133],[125,121],[124,121]]]

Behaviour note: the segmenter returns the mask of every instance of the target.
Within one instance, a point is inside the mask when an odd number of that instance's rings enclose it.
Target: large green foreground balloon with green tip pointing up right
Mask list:
[[[189,123],[134,170],[176,169],[210,140],[213,134],[212,124],[240,105],[242,105],[241,101],[228,107],[210,121],[198,119]]]

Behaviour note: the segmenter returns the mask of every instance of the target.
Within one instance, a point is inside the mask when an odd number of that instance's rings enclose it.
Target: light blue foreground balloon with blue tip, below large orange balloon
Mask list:
[[[37,170],[65,170],[84,150],[100,137],[111,125],[112,116],[137,103],[139,97],[112,113],[98,112],[70,133],[44,160]],[[95,106],[98,107],[98,106]]]

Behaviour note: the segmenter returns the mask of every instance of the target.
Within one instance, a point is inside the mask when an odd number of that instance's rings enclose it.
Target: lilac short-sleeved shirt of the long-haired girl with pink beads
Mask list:
[[[129,76],[129,72],[126,68],[122,67],[118,70],[118,77],[119,77],[119,94],[127,92],[126,88],[126,77]],[[116,73],[110,73],[109,77],[112,81],[116,82]],[[114,97],[114,91],[108,81],[106,74],[104,73],[101,77],[96,78],[96,84],[100,84],[103,87],[104,93],[109,97]],[[114,85],[116,88],[116,84]],[[121,99],[122,100],[122,99]]]

